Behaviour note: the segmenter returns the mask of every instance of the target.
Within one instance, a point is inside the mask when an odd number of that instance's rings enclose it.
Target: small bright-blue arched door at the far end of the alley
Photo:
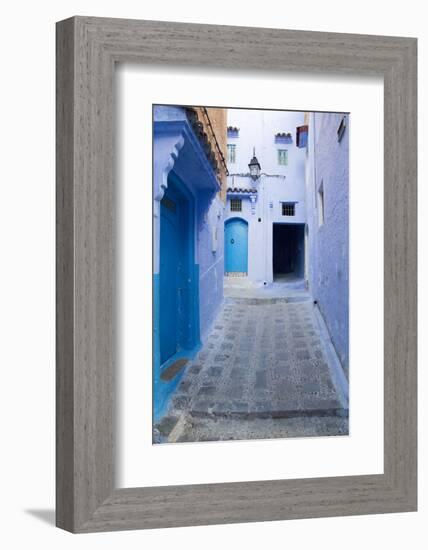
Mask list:
[[[248,273],[248,224],[231,219],[225,224],[224,253],[226,273]]]

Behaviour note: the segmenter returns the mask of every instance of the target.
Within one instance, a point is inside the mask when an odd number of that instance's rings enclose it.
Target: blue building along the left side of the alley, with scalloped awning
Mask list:
[[[199,349],[223,300],[222,153],[216,143],[194,110],[154,107],[155,419],[165,411],[185,360]]]

